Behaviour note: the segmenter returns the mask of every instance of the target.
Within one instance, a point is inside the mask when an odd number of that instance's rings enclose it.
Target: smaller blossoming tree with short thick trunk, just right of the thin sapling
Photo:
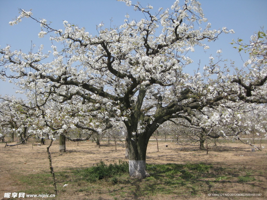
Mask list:
[[[34,95],[36,95],[36,91],[32,98]],[[83,104],[75,98],[62,103],[46,97],[35,99],[35,103],[36,109],[40,113],[39,117],[44,121],[44,126],[46,129],[53,130],[53,134],[49,135],[49,138],[59,137],[60,152],[66,151],[66,138],[73,142],[85,141],[90,139],[93,133],[100,134],[112,127],[105,118],[103,120],[102,116],[97,116],[97,113],[94,112],[95,108],[91,110],[88,104]]]

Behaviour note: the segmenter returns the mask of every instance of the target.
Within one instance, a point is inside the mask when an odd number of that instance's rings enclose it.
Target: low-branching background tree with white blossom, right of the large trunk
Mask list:
[[[239,103],[221,101],[218,106],[207,106],[170,121],[178,126],[176,143],[200,146],[201,150],[205,150],[204,144],[207,144],[208,139],[236,136],[237,133],[234,131],[224,130],[225,127],[241,126],[241,114]]]

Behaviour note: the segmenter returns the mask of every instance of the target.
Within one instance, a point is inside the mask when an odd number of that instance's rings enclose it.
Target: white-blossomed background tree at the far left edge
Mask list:
[[[11,142],[14,141],[14,135],[20,138],[19,143],[6,144],[6,146],[24,144],[30,137],[54,137],[54,130],[46,126],[46,121],[36,104],[14,96],[0,96],[0,99],[1,128],[10,133]]]

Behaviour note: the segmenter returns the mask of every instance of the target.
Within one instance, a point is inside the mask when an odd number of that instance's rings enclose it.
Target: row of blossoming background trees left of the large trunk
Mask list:
[[[102,126],[96,122],[95,127],[92,124],[88,127],[83,123],[84,120],[90,120],[85,115],[78,115],[75,119],[74,113],[77,111],[72,110],[70,117],[67,112],[53,101],[37,105],[34,101],[29,102],[14,96],[0,96],[0,137],[4,139],[7,136],[10,142],[14,142],[14,137],[19,138],[18,143],[7,146],[24,144],[29,138],[40,142],[39,140],[44,141],[45,138],[58,137],[61,152],[66,151],[66,139],[77,142],[92,139],[100,145],[100,140],[105,137],[113,140],[115,145],[122,143],[125,135],[123,124],[112,126],[112,129],[105,131],[111,128],[110,124]],[[76,122],[75,125],[73,121]]]

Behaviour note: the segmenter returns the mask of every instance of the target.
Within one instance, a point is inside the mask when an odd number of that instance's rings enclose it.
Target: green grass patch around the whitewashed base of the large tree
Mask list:
[[[147,164],[147,171],[151,176],[143,180],[130,178],[128,169],[128,163],[124,161],[112,164],[100,161],[93,167],[66,169],[55,173],[57,189],[60,195],[105,194],[111,199],[138,199],[139,197],[152,199],[157,195],[190,198],[210,193],[214,189],[217,191],[218,188],[218,192],[228,192],[219,186],[222,181],[247,184],[255,180],[254,172],[248,172],[242,168],[214,167],[205,163]],[[19,177],[19,180],[29,188],[28,191],[22,192],[53,194],[49,172]],[[68,186],[63,187],[65,184]]]

